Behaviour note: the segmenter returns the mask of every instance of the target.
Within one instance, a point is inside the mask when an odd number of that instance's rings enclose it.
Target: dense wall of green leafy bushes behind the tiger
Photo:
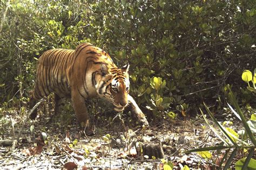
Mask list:
[[[81,42],[129,62],[131,94],[157,116],[184,103],[224,104],[225,84],[244,86],[242,70],[255,67],[252,0],[32,2],[1,2],[1,102],[28,95],[44,51]]]

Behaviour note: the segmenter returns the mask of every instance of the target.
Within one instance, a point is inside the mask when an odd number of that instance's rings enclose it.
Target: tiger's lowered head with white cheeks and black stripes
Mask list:
[[[111,101],[114,110],[123,111],[128,100],[130,90],[129,65],[118,68],[107,68],[105,64],[100,65],[100,78],[96,84],[96,90],[100,97]]]

